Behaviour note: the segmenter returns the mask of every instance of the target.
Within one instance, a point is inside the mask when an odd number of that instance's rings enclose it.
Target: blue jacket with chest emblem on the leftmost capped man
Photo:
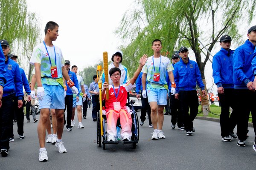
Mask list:
[[[8,57],[8,60],[5,62],[5,69],[6,84],[3,88],[3,97],[16,94],[18,100],[22,100],[24,94],[19,65]]]

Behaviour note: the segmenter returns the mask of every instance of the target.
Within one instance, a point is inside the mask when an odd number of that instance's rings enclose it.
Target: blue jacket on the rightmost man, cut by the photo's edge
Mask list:
[[[249,40],[246,40],[243,45],[236,48],[233,55],[233,79],[234,88],[248,89],[247,83],[253,82],[253,51],[255,46]]]

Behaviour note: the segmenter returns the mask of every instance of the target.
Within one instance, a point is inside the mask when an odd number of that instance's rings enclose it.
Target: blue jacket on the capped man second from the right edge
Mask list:
[[[233,53],[234,51],[231,49],[227,51],[221,48],[221,50],[213,56],[212,77],[218,87],[234,88]]]

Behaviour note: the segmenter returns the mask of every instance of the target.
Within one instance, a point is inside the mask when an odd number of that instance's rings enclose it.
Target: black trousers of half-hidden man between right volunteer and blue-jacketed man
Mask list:
[[[184,127],[184,116],[180,109],[180,100],[175,99],[175,95],[171,95],[170,93],[170,109],[172,113],[172,125],[176,125],[178,127]]]

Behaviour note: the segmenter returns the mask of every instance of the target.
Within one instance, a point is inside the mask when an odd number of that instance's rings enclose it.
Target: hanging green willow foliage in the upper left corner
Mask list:
[[[33,48],[40,41],[40,25],[35,13],[27,11],[26,0],[0,0],[0,39],[9,42],[11,53],[25,72],[32,71],[30,60]]]

